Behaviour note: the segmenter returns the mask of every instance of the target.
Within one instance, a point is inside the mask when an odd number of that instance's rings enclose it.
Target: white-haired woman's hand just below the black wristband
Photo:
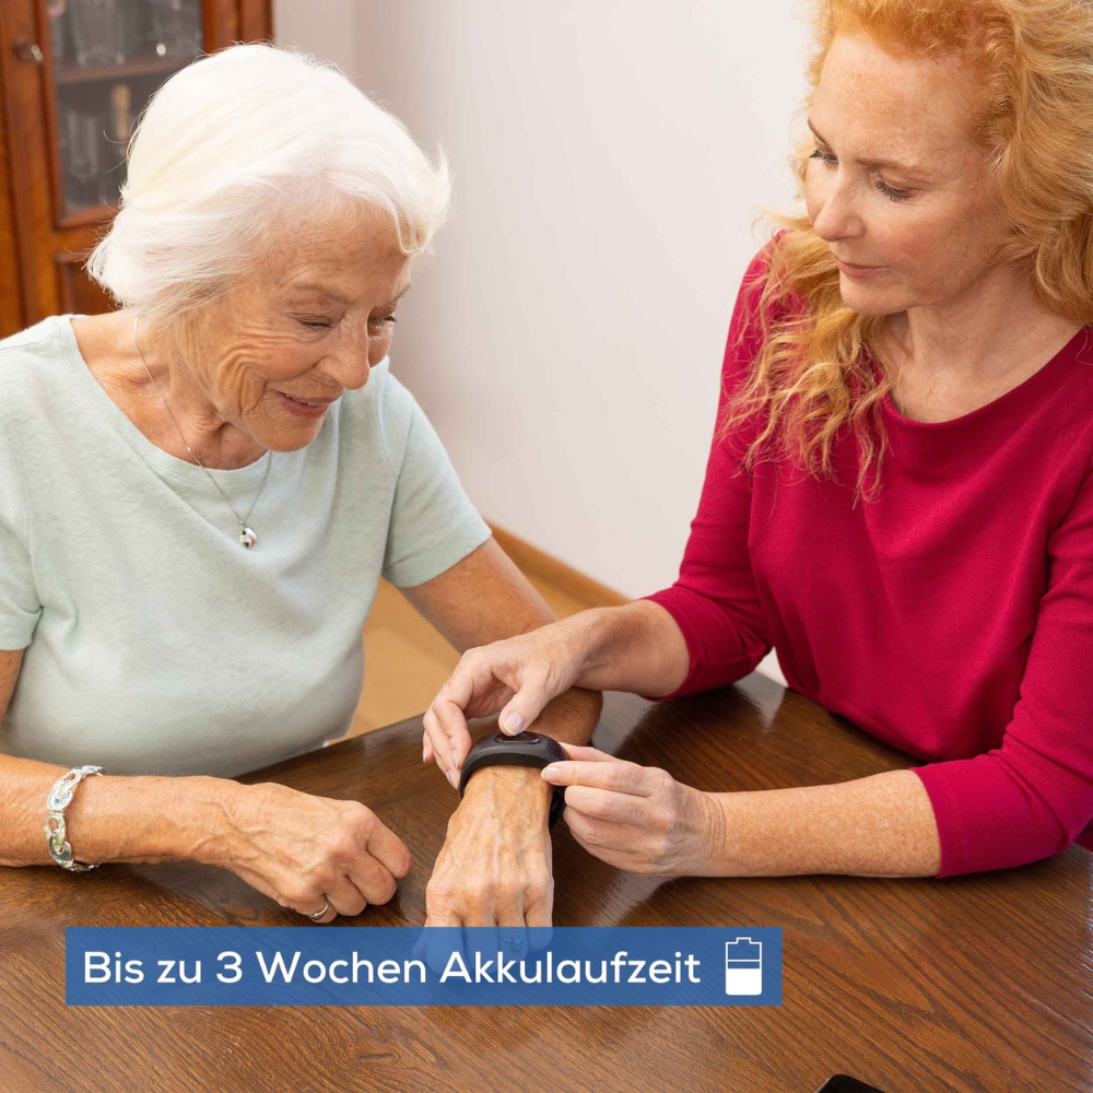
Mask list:
[[[426,926],[550,926],[549,787],[492,767],[467,784],[425,889]]]

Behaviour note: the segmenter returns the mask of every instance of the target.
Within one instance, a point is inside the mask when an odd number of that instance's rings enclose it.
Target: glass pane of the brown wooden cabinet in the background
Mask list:
[[[133,119],[204,49],[201,0],[43,2],[62,220],[82,220],[81,211],[101,219],[103,207],[118,202]]]

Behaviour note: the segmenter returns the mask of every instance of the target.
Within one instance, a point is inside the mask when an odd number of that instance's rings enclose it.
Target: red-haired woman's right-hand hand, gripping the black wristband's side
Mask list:
[[[635,873],[705,872],[725,834],[725,815],[709,794],[657,767],[564,747],[571,760],[552,763],[541,776],[567,787],[562,818],[589,854]]]

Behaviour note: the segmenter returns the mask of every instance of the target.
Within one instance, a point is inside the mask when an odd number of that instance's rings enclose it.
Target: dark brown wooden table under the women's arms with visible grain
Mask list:
[[[595,742],[703,789],[818,785],[908,759],[761,675],[653,706],[608,695]],[[254,775],[367,802],[414,851],[386,907],[420,925],[455,792],[411,719]],[[1093,1090],[1093,859],[954,880],[674,880],[616,872],[564,824],[559,926],[778,926],[772,1008],[72,1008],[63,927],[298,926],[234,874],[0,869],[2,1093],[661,1091],[812,1093],[847,1072],[885,1093]]]

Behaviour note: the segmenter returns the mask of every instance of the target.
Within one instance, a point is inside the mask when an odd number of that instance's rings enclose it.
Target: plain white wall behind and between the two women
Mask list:
[[[750,221],[792,207],[795,4],[363,0],[333,31],[275,9],[451,162],[392,361],[471,497],[624,593],[670,584]]]

